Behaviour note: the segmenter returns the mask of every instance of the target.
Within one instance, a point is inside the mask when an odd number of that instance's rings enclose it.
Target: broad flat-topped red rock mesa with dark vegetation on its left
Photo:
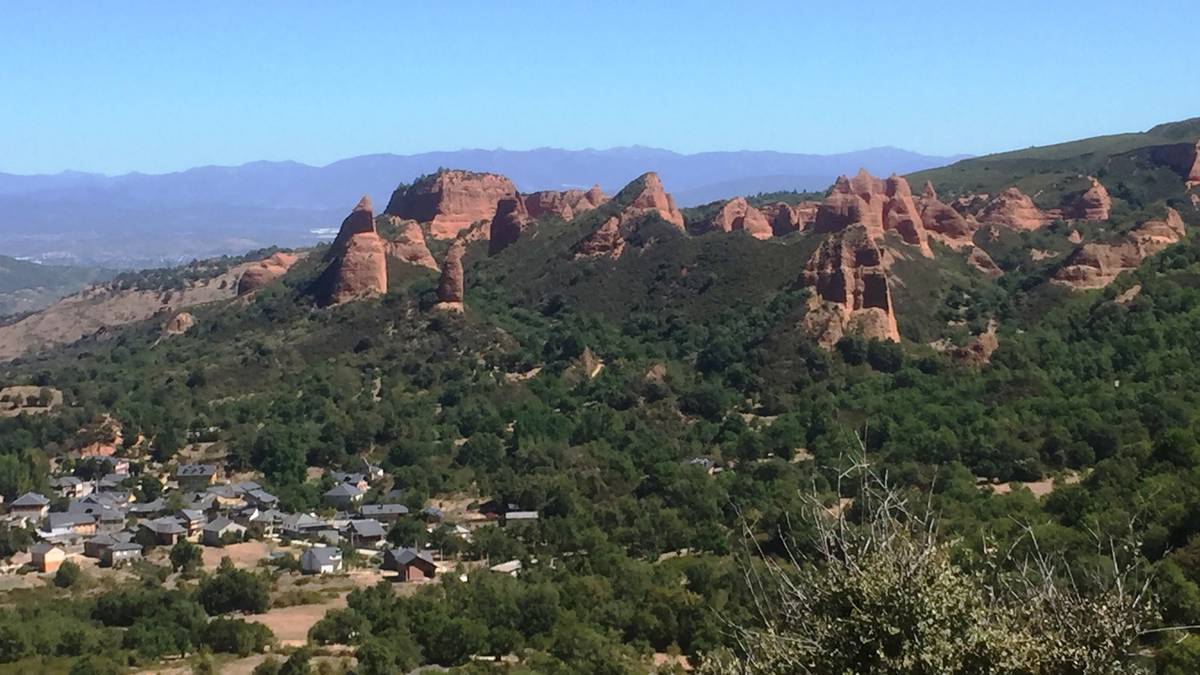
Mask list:
[[[427,223],[436,239],[454,239],[479,221],[491,221],[497,202],[516,193],[503,175],[440,171],[392,193],[385,213]]]

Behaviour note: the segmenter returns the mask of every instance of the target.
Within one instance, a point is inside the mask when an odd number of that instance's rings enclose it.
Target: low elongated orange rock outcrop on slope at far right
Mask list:
[[[1166,209],[1164,220],[1146,221],[1117,241],[1084,244],[1064,262],[1054,282],[1074,289],[1103,288],[1121,273],[1135,269],[1142,261],[1183,239],[1180,214]]]

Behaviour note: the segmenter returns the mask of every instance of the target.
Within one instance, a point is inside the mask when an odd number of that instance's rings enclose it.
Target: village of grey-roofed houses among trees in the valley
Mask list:
[[[49,491],[26,491],[5,504],[0,522],[29,533],[30,545],[0,560],[0,575],[52,575],[68,561],[115,573],[139,561],[161,563],[180,540],[200,545],[205,561],[232,557],[242,567],[290,555],[302,575],[338,575],[353,567],[376,580],[419,583],[480,567],[521,569],[518,560],[466,561],[458,546],[422,548],[418,539],[469,543],[480,527],[536,522],[536,512],[479,500],[415,509],[403,503],[402,491],[385,489],[391,479],[379,466],[360,458],[349,468],[329,472],[320,509],[292,513],[252,477],[227,476],[218,462],[131,462],[118,456],[115,443],[94,443],[60,465]],[[154,498],[137,498],[148,492]],[[403,534],[395,532],[424,536],[396,542]],[[436,532],[442,536],[431,537]]]

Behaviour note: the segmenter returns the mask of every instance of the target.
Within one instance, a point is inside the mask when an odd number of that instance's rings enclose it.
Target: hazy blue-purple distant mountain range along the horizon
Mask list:
[[[323,167],[250,162],[178,173],[108,177],[0,174],[0,251],[37,261],[146,267],[266,246],[312,244],[364,193],[386,203],[400,183],[439,167],[502,173],[522,191],[608,193],[656,171],[680,205],[778,190],[823,190],[860,167],[911,173],[964,156],[875,148],[839,155],[655,148],[456,150],[364,155]]]

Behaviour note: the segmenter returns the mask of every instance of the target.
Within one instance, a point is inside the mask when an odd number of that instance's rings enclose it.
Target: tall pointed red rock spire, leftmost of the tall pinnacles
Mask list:
[[[317,299],[323,305],[388,292],[388,251],[376,232],[371,198],[364,196],[330,246],[329,267],[317,281]]]

